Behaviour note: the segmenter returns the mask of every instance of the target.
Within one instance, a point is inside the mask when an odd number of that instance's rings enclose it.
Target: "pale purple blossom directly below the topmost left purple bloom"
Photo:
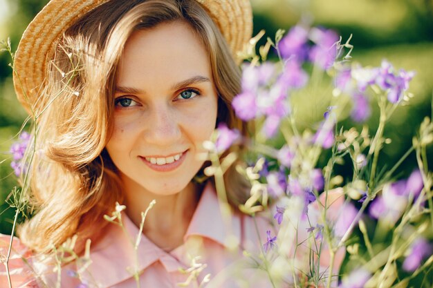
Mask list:
[[[308,74],[302,70],[301,64],[295,59],[286,61],[284,73],[277,82],[285,89],[299,89],[306,85]]]

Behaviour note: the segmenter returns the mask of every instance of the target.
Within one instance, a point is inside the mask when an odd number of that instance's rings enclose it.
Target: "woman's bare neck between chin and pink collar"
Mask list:
[[[123,183],[126,213],[137,227],[140,227],[142,222],[141,213],[152,200],[156,200],[154,207],[147,213],[143,234],[165,251],[171,251],[183,244],[183,236],[199,202],[199,187],[190,182],[177,193],[158,195],[132,180],[123,179]]]

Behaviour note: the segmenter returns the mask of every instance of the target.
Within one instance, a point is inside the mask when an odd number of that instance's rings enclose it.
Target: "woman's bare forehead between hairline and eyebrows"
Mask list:
[[[205,46],[189,23],[173,21],[136,30],[125,44],[118,85],[158,84],[197,75],[210,77]]]

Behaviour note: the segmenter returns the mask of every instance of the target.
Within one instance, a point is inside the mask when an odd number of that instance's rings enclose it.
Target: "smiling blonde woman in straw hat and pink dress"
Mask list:
[[[259,249],[254,220],[232,208],[225,221],[212,180],[195,179],[216,126],[246,135],[230,103],[251,21],[248,0],[52,0],[37,15],[15,59],[17,95],[36,124],[36,213],[14,241],[34,256],[11,264],[31,267],[17,285],[237,287],[225,278],[236,251]],[[237,207],[245,181],[225,175]],[[248,277],[266,280],[259,274]]]

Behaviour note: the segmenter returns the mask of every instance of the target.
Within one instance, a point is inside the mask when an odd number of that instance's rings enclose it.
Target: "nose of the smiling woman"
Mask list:
[[[145,140],[149,144],[170,146],[181,139],[176,111],[166,105],[152,108],[146,115]]]

